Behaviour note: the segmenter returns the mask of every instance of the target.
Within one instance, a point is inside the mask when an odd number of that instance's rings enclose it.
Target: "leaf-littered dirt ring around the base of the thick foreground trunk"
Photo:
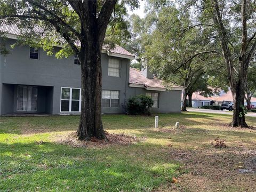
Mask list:
[[[110,134],[106,132],[107,140],[99,140],[92,138],[89,141],[80,141],[76,136],[76,132],[67,133],[64,135],[58,135],[54,138],[55,142],[64,145],[70,145],[73,147],[92,147],[92,146],[108,146],[108,145],[131,145],[133,143],[140,142],[145,138],[132,137],[125,134]]]

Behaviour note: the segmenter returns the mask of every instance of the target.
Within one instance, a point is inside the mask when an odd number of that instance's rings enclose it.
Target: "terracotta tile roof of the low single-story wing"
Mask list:
[[[136,84],[136,85],[143,85],[145,87],[152,87],[152,88],[160,88],[165,89],[165,86],[163,85],[163,81],[157,79],[157,78],[146,78],[141,74],[141,71],[138,69],[134,69],[130,67],[130,76],[129,76],[129,83],[130,84]],[[182,86],[173,86],[176,88],[182,88]]]

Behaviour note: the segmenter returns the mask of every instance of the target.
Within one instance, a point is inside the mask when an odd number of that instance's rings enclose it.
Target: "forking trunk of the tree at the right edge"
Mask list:
[[[245,97],[245,87],[247,82],[247,74],[249,63],[252,59],[252,54],[256,47],[256,41],[253,42],[253,38],[256,32],[249,39],[247,38],[247,1],[242,1],[241,6],[241,20],[242,20],[242,41],[241,50],[238,57],[239,67],[235,69],[233,55],[229,49],[229,37],[227,35],[227,29],[223,24],[222,13],[220,12],[218,0],[212,0],[214,4],[215,13],[213,15],[213,21],[216,26],[218,26],[218,33],[220,35],[220,42],[222,47],[223,58],[226,62],[228,81],[230,85],[230,90],[233,95],[234,101],[234,111],[233,111],[233,121],[230,123],[232,127],[241,126],[248,127],[245,122],[244,114],[244,97]],[[253,42],[253,43],[252,43]],[[249,46],[249,44],[251,46]]]

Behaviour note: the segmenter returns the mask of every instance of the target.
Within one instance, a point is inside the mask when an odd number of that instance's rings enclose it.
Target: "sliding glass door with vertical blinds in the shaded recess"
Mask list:
[[[17,111],[37,110],[37,87],[18,85]]]

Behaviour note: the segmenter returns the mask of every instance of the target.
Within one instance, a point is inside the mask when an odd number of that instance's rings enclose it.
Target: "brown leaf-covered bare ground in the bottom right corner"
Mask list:
[[[181,150],[169,148],[182,166],[178,183],[156,191],[255,191],[256,150],[245,147]],[[247,173],[240,169],[250,170]]]

